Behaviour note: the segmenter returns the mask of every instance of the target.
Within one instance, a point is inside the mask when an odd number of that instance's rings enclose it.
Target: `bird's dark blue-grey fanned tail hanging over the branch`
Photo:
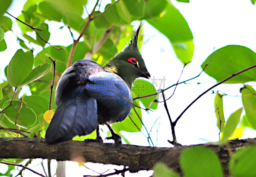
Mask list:
[[[46,131],[46,143],[57,143],[72,139],[76,135],[92,133],[98,126],[97,103],[84,89],[73,99],[60,103]],[[74,93],[73,93],[74,94]]]

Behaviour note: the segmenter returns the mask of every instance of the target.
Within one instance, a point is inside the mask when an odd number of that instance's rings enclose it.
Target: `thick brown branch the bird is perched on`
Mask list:
[[[228,152],[235,152],[245,146],[255,144],[256,139],[232,140],[229,147],[202,144],[215,151],[225,174],[228,174]],[[56,159],[58,161],[72,160],[129,166],[130,172],[152,170],[156,162],[162,161],[173,170],[180,173],[179,157],[183,149],[194,146],[148,147],[123,145],[120,151],[109,143],[67,141],[48,145],[43,138],[0,138],[0,158],[19,159]]]

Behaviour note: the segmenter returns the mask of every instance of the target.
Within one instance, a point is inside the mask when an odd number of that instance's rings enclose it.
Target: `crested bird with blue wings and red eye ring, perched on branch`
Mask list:
[[[132,84],[138,77],[150,74],[138,48],[142,23],[134,30],[124,49],[102,67],[92,60],[78,60],[65,70],[57,83],[57,109],[45,134],[48,144],[71,140],[96,130],[96,139],[103,142],[99,125],[107,125],[115,144],[121,137],[110,124],[123,121],[132,108]]]

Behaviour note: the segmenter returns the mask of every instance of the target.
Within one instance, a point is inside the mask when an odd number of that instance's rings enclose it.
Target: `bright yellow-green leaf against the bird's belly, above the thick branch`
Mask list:
[[[133,104],[135,105],[140,105],[139,101],[134,100]],[[141,110],[140,108],[135,107],[135,110],[137,111],[138,115],[141,117]],[[142,123],[139,119],[139,117],[137,116],[136,112],[133,110],[131,110],[129,116],[131,117],[132,121],[138,126],[138,128],[141,130],[142,128]],[[127,116],[124,121],[122,122],[118,122],[116,124],[112,124],[112,128],[114,129],[114,131],[119,132],[119,131],[127,131],[127,132],[139,132],[140,130],[138,130],[138,128],[132,123],[131,119],[129,118],[129,116]]]

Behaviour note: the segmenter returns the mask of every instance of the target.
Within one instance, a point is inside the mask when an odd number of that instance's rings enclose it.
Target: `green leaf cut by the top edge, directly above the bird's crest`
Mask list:
[[[152,18],[159,16],[167,5],[166,0],[150,0],[145,1],[144,16],[142,19]]]

